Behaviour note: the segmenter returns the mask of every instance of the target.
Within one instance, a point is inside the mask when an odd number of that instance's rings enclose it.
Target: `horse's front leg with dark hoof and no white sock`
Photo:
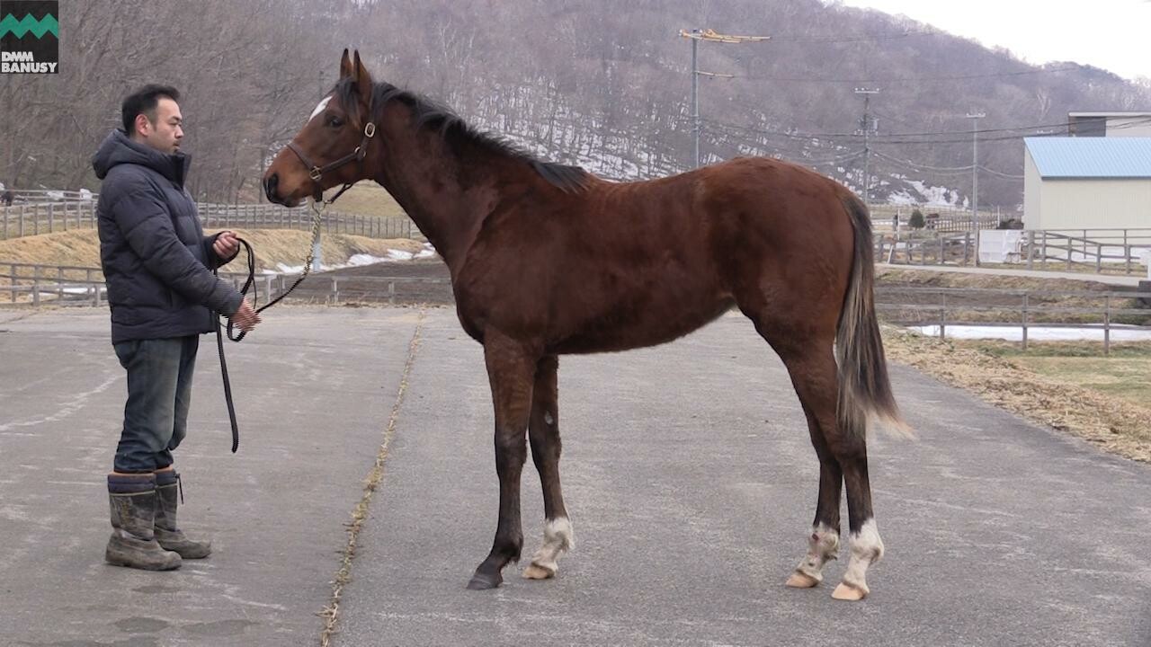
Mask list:
[[[518,562],[524,548],[519,520],[519,477],[527,459],[525,435],[532,411],[532,382],[539,355],[529,347],[498,333],[486,333],[483,358],[488,366],[495,408],[496,473],[500,475],[500,520],[491,553],[475,569],[467,588],[495,588],[501,572]]]

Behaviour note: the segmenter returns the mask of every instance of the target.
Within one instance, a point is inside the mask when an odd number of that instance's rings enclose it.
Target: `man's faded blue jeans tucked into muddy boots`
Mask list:
[[[199,335],[115,344],[120,365],[128,370],[128,403],[116,447],[116,472],[154,472],[171,465],[171,450],[188,433],[199,345]]]

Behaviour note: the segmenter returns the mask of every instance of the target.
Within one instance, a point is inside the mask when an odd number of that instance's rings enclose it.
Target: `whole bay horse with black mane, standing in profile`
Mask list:
[[[543,486],[543,542],[523,574],[551,578],[572,547],[559,486],[558,356],[670,342],[731,307],[779,355],[820,458],[807,554],[813,587],[839,553],[846,484],[851,561],[833,596],[868,593],[883,555],[867,471],[869,418],[901,426],[872,297],[871,226],[851,191],[800,166],[740,158],[672,177],[609,182],[544,162],[424,97],[372,79],[344,50],[340,81],[264,175],[269,200],[380,183],[451,274],[464,330],[483,345],[495,409],[500,517],[467,587],[518,562],[520,473]]]

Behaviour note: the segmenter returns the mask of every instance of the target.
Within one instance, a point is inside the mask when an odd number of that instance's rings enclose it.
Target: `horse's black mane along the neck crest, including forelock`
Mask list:
[[[344,106],[357,105],[352,79],[343,78],[336,84],[335,92]],[[577,192],[587,187],[590,174],[578,166],[567,166],[544,161],[524,151],[508,139],[477,130],[451,109],[409,90],[402,90],[390,83],[372,84],[373,109],[383,109],[389,101],[399,101],[407,106],[416,117],[417,128],[428,128],[440,131],[440,136],[451,144],[467,143],[481,150],[521,160],[528,163],[540,177],[549,184],[564,191]]]

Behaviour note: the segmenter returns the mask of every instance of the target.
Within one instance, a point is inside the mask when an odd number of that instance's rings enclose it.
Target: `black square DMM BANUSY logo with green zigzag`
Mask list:
[[[0,74],[60,71],[60,2],[0,0]]]

